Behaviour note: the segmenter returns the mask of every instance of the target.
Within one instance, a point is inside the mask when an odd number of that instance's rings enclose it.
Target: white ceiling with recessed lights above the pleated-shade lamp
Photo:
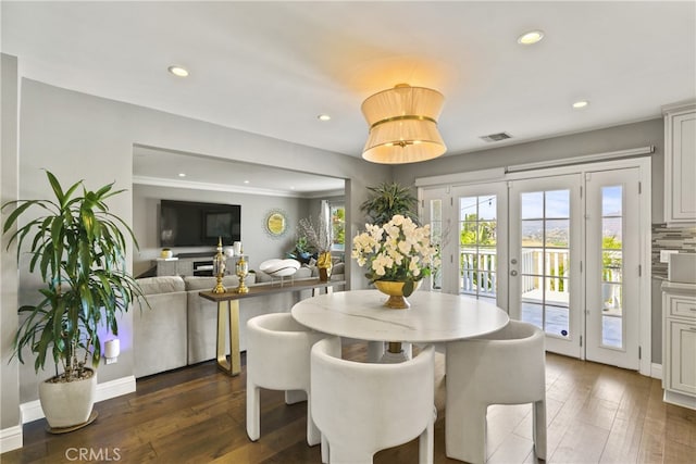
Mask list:
[[[490,148],[480,137],[493,133],[513,137],[500,146],[659,117],[696,97],[694,1],[1,8],[2,51],[26,77],[350,156],[368,134],[360,104],[399,83],[445,95],[447,154]],[[544,40],[518,45],[533,28]],[[573,110],[579,99],[589,105]]]

